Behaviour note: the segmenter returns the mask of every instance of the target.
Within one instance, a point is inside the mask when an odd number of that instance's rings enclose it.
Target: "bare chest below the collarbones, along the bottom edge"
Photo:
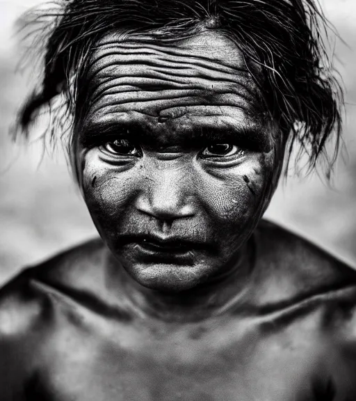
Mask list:
[[[309,399],[313,353],[305,341],[262,338],[243,325],[206,329],[67,331],[42,351],[29,393],[51,401]]]

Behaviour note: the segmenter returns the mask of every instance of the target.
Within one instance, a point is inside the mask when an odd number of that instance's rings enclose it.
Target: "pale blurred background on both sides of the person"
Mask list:
[[[31,89],[16,73],[19,45],[13,24],[40,0],[0,1],[0,285],[20,268],[97,235],[68,172],[60,147],[15,145],[8,135],[15,111]],[[356,265],[356,1],[321,0],[347,46],[337,42],[346,86],[347,155],[339,159],[333,188],[317,175],[281,182],[266,212],[270,220],[304,235]]]

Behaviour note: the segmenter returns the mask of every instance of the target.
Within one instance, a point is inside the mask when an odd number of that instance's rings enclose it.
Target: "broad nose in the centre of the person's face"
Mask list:
[[[136,207],[161,221],[193,217],[193,191],[190,174],[179,166],[156,166],[145,179]]]

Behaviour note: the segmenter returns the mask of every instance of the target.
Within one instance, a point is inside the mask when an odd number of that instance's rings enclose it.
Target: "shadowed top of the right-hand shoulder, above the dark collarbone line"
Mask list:
[[[275,223],[261,221],[254,244],[264,304],[356,288],[354,267]]]

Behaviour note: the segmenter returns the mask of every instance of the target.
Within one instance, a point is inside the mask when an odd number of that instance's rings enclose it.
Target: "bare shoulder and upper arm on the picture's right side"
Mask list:
[[[255,242],[264,268],[257,297],[260,310],[278,310],[281,321],[298,322],[295,336],[312,338],[314,349],[319,349],[318,365],[333,394],[330,399],[354,400],[355,268],[267,221],[257,228]],[[302,333],[298,327],[304,327]]]

